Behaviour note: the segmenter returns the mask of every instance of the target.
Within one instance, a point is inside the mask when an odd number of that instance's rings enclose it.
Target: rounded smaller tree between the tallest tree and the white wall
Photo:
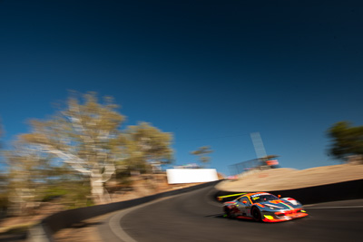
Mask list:
[[[152,127],[150,123],[140,122],[129,126],[125,131],[129,169],[146,171],[152,166],[156,169],[162,164],[172,162],[172,134]]]

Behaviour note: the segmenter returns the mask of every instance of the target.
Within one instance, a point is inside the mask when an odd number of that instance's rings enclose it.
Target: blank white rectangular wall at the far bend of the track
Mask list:
[[[169,184],[218,180],[216,169],[166,169]]]

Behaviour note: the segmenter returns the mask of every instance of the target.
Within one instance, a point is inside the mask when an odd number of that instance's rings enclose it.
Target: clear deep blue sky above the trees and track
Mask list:
[[[332,165],[325,132],[363,124],[363,5],[3,0],[0,82],[5,144],[68,90],[93,91],[115,98],[124,125],[172,132],[176,164],[210,145],[229,174],[256,158],[259,131],[282,167]]]

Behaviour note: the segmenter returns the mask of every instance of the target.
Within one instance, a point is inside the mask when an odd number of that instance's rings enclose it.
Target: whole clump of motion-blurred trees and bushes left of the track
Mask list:
[[[53,199],[67,208],[107,203],[106,187],[130,188],[133,177],[172,162],[172,133],[147,122],[123,129],[124,120],[112,98],[99,102],[89,92],[72,93],[54,116],[30,121],[30,131],[4,150],[0,208],[25,215]]]

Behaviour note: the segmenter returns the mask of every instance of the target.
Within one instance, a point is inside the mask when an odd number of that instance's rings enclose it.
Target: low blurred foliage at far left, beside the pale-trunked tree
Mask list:
[[[16,140],[12,150],[5,150],[8,214],[36,213],[42,201],[61,197],[58,202],[68,208],[89,204],[90,189],[84,184],[86,179],[66,163],[53,160],[52,154],[33,146]]]

